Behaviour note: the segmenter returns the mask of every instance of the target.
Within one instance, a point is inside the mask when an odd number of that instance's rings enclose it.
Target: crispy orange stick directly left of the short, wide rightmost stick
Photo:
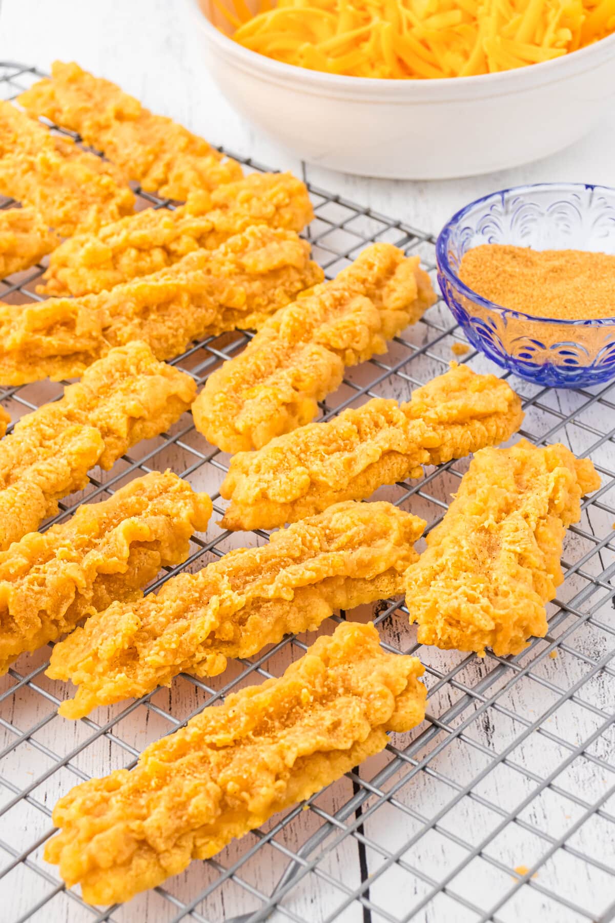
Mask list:
[[[494,375],[451,366],[408,403],[374,398],[327,423],[273,439],[258,452],[235,455],[220,487],[231,500],[225,528],[273,529],[420,477],[421,465],[443,464],[510,438],[523,420],[514,390]]]

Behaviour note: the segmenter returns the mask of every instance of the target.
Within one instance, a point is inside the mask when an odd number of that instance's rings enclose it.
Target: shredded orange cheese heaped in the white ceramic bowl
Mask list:
[[[615,0],[214,0],[233,39],[286,64],[375,78],[469,77],[569,54],[615,31]]]

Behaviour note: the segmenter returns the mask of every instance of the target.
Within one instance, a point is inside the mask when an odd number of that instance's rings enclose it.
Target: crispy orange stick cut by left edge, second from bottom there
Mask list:
[[[134,342],[95,363],[60,401],[21,417],[0,442],[0,549],[34,532],[58,500],[163,432],[194,399],[193,378]]]

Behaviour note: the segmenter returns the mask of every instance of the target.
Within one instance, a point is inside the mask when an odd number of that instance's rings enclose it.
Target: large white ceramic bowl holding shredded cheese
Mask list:
[[[229,27],[212,0],[184,2],[229,102],[302,160],[332,170],[446,179],[513,167],[582,138],[615,98],[615,35],[499,74],[378,80],[255,54],[220,31]]]

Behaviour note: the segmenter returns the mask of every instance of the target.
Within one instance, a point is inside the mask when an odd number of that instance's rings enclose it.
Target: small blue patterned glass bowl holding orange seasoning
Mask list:
[[[438,282],[467,339],[498,366],[538,385],[579,388],[615,378],[613,317],[537,318],[495,305],[457,276],[480,244],[615,254],[615,189],[583,183],[516,186],[457,211],[436,243]]]

